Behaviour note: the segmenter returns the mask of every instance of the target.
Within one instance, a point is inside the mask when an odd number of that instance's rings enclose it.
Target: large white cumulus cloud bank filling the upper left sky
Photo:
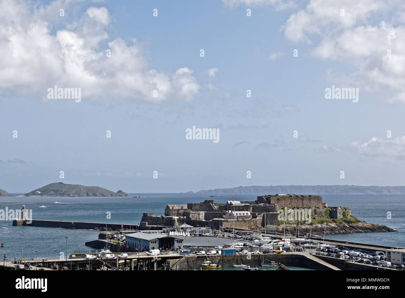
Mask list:
[[[187,101],[198,94],[200,85],[192,69],[180,66],[174,73],[150,69],[136,39],[110,38],[106,26],[111,16],[105,7],[89,7],[71,24],[55,20],[58,7],[76,3],[0,1],[0,93],[47,101],[47,89],[57,85],[81,88],[84,100]],[[62,28],[53,32],[55,24]]]

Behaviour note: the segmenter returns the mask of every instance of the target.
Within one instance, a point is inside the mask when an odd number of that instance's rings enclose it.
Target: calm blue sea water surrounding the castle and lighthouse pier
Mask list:
[[[141,198],[132,198],[140,195]],[[214,199],[215,202],[226,202],[229,199],[254,201],[257,195],[245,194],[240,197],[223,195],[224,197],[209,198],[208,194],[130,194],[130,197],[0,197],[0,209],[32,210],[33,219],[49,219],[64,221],[88,221],[138,224],[143,212],[153,212],[163,215],[168,204],[187,204]],[[405,195],[323,195],[323,201],[328,206],[347,206],[352,214],[368,223],[387,225],[399,232],[393,233],[363,233],[328,235],[326,238],[347,241],[367,242],[373,244],[405,247]],[[64,204],[55,204],[58,201]],[[39,206],[47,206],[40,208]],[[111,219],[107,219],[111,212]],[[387,212],[392,212],[392,218],[387,219]],[[6,253],[8,258],[14,258],[16,252],[24,256],[58,257],[60,252],[90,250],[85,246],[86,241],[95,240],[99,232],[92,230],[55,229],[42,227],[13,227],[11,221],[0,221],[0,253]],[[378,239],[380,238],[380,239]],[[190,240],[191,241],[191,240]],[[193,240],[194,241],[194,240]],[[24,244],[21,244],[24,242]],[[187,242],[186,242],[187,244]]]

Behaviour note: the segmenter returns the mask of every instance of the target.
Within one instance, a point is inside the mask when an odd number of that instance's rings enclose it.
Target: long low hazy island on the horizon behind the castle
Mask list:
[[[189,191],[188,193],[194,193]],[[275,186],[239,186],[224,189],[201,190],[196,193],[306,193],[306,194],[347,194],[347,195],[390,195],[405,194],[405,186],[359,186],[359,185],[275,185]]]

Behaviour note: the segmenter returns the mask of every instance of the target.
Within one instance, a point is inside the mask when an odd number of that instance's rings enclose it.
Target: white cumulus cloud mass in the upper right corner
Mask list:
[[[405,102],[404,11],[405,2],[399,0],[311,0],[289,17],[283,30],[294,43],[319,41],[312,51],[315,58],[354,66],[339,77],[342,84],[365,90],[388,87],[385,99]]]

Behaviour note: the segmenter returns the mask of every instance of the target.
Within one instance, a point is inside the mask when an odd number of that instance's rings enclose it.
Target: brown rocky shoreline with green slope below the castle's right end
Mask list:
[[[326,225],[326,229],[325,229]],[[286,225],[291,234],[295,233],[296,225]],[[284,225],[279,227],[280,231],[283,231]],[[375,223],[366,223],[360,221],[359,223],[323,223],[317,225],[300,225],[300,234],[311,233],[312,235],[323,235],[325,231],[326,235],[334,234],[354,234],[354,233],[375,233],[375,232],[398,232],[391,229],[386,225],[377,225]]]

